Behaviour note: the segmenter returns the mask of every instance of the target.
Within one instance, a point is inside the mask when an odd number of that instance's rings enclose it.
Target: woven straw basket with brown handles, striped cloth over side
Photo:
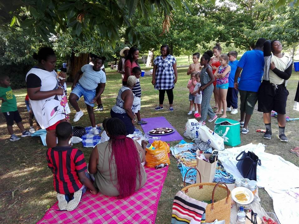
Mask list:
[[[190,168],[189,170],[192,169],[196,168]],[[186,187],[185,180],[189,170],[186,172],[182,191],[190,198],[198,201],[211,200],[212,198],[212,203],[206,206],[206,222],[214,222],[215,219],[218,219],[218,221],[225,220],[225,224],[229,224],[231,194],[227,185],[225,183],[201,183],[200,172],[196,169],[199,174],[200,183],[190,184]],[[224,184],[224,186],[220,184]]]

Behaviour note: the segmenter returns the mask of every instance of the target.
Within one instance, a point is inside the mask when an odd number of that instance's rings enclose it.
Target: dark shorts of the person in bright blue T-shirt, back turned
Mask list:
[[[253,114],[254,106],[258,101],[258,93],[252,91],[239,90],[240,93],[240,111],[248,115]]]

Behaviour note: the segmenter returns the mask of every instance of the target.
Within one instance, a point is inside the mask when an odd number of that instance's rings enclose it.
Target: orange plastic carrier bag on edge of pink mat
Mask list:
[[[166,142],[161,140],[154,141],[152,146],[155,150],[146,149],[146,166],[155,167],[160,165],[161,163],[168,163],[170,164],[170,160],[168,157],[168,153],[170,152],[169,146]]]

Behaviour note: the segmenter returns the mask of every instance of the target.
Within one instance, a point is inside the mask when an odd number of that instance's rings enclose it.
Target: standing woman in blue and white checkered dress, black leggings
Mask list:
[[[178,80],[177,62],[170,55],[170,48],[164,44],[160,48],[161,55],[154,59],[152,84],[159,90],[159,106],[155,110],[163,110],[165,91],[169,101],[169,111],[173,111],[173,88]]]

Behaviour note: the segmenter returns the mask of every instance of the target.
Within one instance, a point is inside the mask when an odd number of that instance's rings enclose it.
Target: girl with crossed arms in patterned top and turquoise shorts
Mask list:
[[[228,90],[228,77],[230,76],[230,65],[229,59],[227,54],[221,54],[220,55],[220,63],[221,66],[219,66],[216,69],[216,72],[214,73],[215,79],[217,79],[216,88],[218,91],[218,112],[216,114],[222,114],[221,109],[223,106],[223,115],[221,118],[226,118],[226,94]]]

